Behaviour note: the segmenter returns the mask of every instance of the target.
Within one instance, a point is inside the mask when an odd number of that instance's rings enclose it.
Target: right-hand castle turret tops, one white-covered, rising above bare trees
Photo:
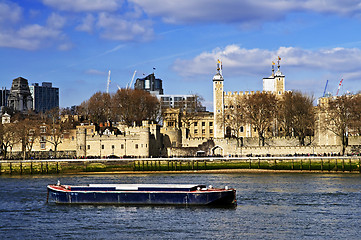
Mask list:
[[[285,75],[280,70],[281,58],[278,57],[278,69],[275,73],[274,65],[272,62],[272,75],[268,78],[263,78],[263,91],[272,92],[276,95],[282,95],[285,92]]]

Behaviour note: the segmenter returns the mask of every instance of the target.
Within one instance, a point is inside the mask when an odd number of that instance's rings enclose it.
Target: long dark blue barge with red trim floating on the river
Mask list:
[[[217,205],[236,204],[236,190],[202,184],[48,185],[48,200],[57,204]]]

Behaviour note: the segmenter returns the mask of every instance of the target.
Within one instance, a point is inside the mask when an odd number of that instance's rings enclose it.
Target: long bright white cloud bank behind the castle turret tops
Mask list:
[[[193,59],[177,59],[173,69],[183,76],[209,75],[215,72],[217,59],[223,62],[227,76],[255,75],[270,73],[272,61],[282,58],[281,66],[296,71],[325,71],[354,79],[361,69],[361,49],[331,48],[305,50],[294,47],[280,47],[277,50],[245,49],[238,45],[216,48],[203,52]]]

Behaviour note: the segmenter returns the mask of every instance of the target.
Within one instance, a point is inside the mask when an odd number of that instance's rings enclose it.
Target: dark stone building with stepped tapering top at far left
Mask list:
[[[7,104],[9,108],[15,111],[26,112],[32,109],[33,98],[31,97],[27,79],[18,77],[13,80]]]

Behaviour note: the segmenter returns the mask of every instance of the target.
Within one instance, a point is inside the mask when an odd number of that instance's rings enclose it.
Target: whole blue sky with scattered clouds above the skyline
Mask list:
[[[153,72],[165,94],[262,90],[282,58],[286,90],[318,98],[361,90],[361,1],[0,0],[0,87],[22,76],[52,82],[60,105],[125,87]]]

